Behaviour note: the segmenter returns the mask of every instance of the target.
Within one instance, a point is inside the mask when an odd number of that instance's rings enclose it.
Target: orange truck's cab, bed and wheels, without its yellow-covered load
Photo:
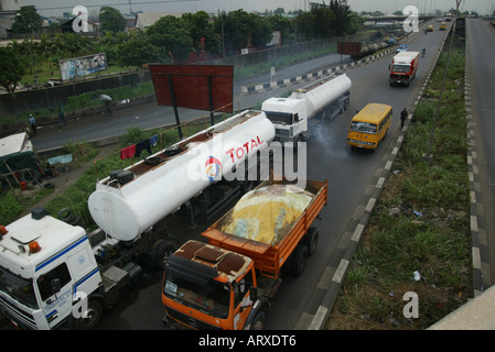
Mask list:
[[[256,189],[284,180],[266,180]],[[305,180],[312,194],[306,208],[288,234],[266,244],[219,230],[233,209],[202,234],[208,243],[187,241],[165,265],[162,302],[169,328],[260,330],[263,309],[281,284],[281,268],[300,275],[318,246],[319,230],[312,227],[326,205],[329,184]]]

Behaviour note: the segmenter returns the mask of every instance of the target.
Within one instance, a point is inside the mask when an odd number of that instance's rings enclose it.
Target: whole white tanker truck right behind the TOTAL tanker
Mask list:
[[[351,79],[342,74],[297,89],[289,98],[270,98],[263,101],[261,110],[275,125],[275,140],[294,144],[308,141],[311,134],[309,120],[331,120],[346,110],[351,86]]]

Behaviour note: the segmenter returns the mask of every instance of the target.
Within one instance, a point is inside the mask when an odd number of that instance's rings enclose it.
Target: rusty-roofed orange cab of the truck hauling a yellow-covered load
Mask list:
[[[235,252],[189,241],[169,257],[162,292],[166,323],[192,329],[262,327],[252,261]]]

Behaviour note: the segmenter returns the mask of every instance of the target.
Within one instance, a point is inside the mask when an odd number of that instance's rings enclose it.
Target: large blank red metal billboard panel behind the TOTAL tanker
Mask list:
[[[234,66],[149,64],[158,103],[233,112]]]

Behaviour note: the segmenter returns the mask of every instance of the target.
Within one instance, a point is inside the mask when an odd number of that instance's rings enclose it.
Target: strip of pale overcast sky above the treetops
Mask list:
[[[101,6],[110,6],[122,13],[132,11],[143,12],[196,12],[204,10],[214,12],[234,11],[243,9],[245,11],[275,10],[283,8],[286,12],[292,10],[309,10],[309,2],[329,3],[330,0],[24,0],[26,6],[34,4],[42,15],[62,15],[63,12],[72,12],[76,6],[84,6],[92,10],[98,10]],[[392,13],[402,11],[407,6],[415,6],[420,13],[431,13],[435,9],[448,11],[455,8],[455,0],[347,0],[351,10],[381,11]],[[480,14],[492,13],[495,10],[495,0],[462,0],[460,10],[476,11]]]

